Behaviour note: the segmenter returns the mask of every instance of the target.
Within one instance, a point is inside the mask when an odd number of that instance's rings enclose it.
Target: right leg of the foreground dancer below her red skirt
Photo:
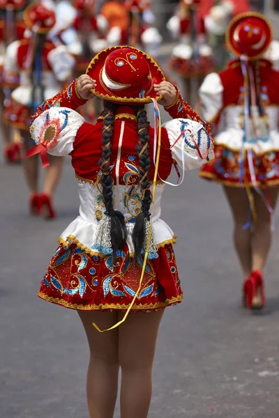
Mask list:
[[[119,319],[123,314],[119,314]],[[130,314],[119,327],[121,418],[146,418],[152,394],[152,366],[163,310]]]

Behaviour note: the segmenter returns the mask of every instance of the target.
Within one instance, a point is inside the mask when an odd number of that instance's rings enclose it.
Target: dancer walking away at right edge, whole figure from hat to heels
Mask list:
[[[227,29],[227,47],[238,58],[208,75],[200,88],[204,117],[218,132],[216,159],[200,175],[223,185],[232,209],[248,308],[264,307],[262,270],[278,198],[279,72],[262,58],[271,40],[264,16],[236,16]]]

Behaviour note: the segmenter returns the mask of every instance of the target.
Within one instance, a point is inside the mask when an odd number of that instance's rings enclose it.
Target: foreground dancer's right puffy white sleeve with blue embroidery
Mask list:
[[[193,170],[213,160],[213,139],[201,123],[190,119],[172,119],[167,130],[173,159],[183,170]]]

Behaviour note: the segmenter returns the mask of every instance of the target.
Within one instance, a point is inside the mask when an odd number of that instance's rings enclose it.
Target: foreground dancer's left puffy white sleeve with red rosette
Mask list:
[[[84,118],[68,107],[52,107],[34,119],[31,137],[36,145],[47,148],[47,153],[63,157],[73,151],[77,131]]]

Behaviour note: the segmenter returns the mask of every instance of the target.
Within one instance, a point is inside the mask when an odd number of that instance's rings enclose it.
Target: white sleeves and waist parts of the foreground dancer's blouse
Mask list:
[[[50,144],[48,153],[56,156],[68,155],[73,151],[73,144],[77,131],[84,123],[84,118],[76,111],[63,108],[53,107],[33,121],[31,125],[31,136],[36,144],[45,140],[45,127],[55,122],[57,132],[55,144]],[[58,126],[57,123],[60,123]],[[122,134],[125,135],[125,121],[123,123]],[[202,157],[208,154],[209,160],[213,159],[213,146],[209,135],[204,130],[203,125],[188,119],[174,119],[163,125],[169,135],[169,145],[172,151],[173,159],[179,164],[179,167],[190,170],[197,169],[206,162]],[[42,133],[43,132],[43,133]],[[43,135],[43,139],[42,139]],[[177,140],[178,139],[178,140]],[[199,151],[195,146],[199,147]],[[209,151],[208,151],[209,149]],[[121,153],[119,153],[121,155]],[[116,164],[117,166],[117,164]],[[117,176],[117,173],[116,173]],[[80,215],[70,223],[65,231],[61,234],[60,240],[67,242],[77,242],[78,245],[86,247],[91,254],[99,255],[98,251],[92,249],[96,238],[98,223],[102,219],[104,208],[96,210],[99,206],[100,184],[88,180],[77,179],[78,193],[80,198]],[[119,185],[118,182],[113,186],[114,205],[121,210],[126,218],[128,228],[127,244],[130,254],[133,254],[132,233],[135,222],[135,216],[140,209],[140,199],[132,199],[130,203],[125,203],[124,195],[128,195],[130,185]],[[158,183],[156,192],[153,196],[151,205],[151,217],[153,222],[154,243],[156,247],[163,246],[170,242],[175,242],[175,235],[172,229],[160,219],[161,214],[161,196],[163,194],[165,184]],[[120,197],[119,197],[120,196]],[[135,215],[135,216],[134,216]],[[133,217],[134,216],[134,217]]]

